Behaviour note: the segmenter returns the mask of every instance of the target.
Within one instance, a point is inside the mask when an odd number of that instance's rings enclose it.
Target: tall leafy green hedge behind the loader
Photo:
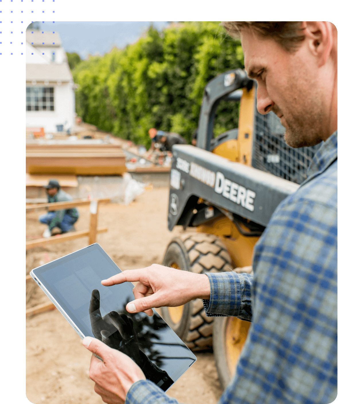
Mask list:
[[[207,82],[244,67],[240,41],[226,36],[220,21],[184,22],[160,33],[151,27],[123,50],[79,63],[72,56],[71,63],[79,85],[77,114],[147,147],[152,127],[179,133],[190,143]],[[238,108],[238,102],[220,103],[214,136],[237,127]]]

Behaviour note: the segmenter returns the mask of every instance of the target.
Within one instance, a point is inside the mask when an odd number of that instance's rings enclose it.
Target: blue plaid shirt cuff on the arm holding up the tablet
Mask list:
[[[179,404],[150,380],[135,382],[126,395],[125,404]]]

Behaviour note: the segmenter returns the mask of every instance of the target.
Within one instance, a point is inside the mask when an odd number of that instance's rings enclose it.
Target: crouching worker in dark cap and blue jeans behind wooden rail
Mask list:
[[[62,191],[60,184],[56,179],[51,179],[46,188],[48,203],[51,202],[67,202],[73,198]],[[75,231],[74,223],[79,219],[79,212],[77,208],[50,211],[46,215],[39,217],[40,223],[47,225],[43,237],[55,236],[56,234],[67,233],[68,231]]]

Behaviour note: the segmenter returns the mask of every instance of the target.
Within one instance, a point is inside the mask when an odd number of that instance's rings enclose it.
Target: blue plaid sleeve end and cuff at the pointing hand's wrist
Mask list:
[[[236,272],[207,273],[210,299],[203,299],[208,317],[238,317],[251,320],[252,275]]]

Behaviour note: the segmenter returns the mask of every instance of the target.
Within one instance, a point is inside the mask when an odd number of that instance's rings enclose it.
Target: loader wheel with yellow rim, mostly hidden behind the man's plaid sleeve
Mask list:
[[[248,273],[250,267],[238,268],[236,272]],[[252,270],[251,272],[252,273]],[[238,358],[243,349],[250,328],[250,322],[236,317],[214,319],[213,349],[218,379],[226,389],[236,371]]]

